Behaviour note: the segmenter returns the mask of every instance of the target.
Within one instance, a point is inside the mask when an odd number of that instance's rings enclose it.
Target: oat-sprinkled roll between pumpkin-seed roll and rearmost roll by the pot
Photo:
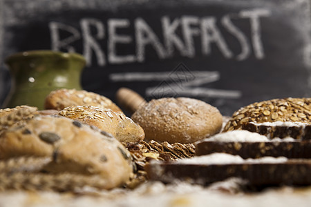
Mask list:
[[[59,111],[59,115],[96,126],[122,142],[144,139],[144,130],[122,112],[95,106],[71,106]]]

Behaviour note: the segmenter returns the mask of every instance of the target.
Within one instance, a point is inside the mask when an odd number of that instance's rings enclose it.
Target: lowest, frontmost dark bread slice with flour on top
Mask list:
[[[216,154],[224,153],[207,156]],[[238,158],[237,155],[229,156]],[[227,159],[227,155],[223,157]],[[206,156],[200,156],[200,158],[206,158]],[[196,161],[196,158],[167,163],[152,161],[147,164],[146,171],[149,179],[164,183],[171,183],[178,179],[207,185],[229,177],[239,177],[247,180],[251,186],[305,186],[311,184],[310,159],[285,159],[282,157],[272,160],[270,157],[241,161],[241,157],[239,157],[238,162],[228,160],[223,162],[221,159],[211,162],[208,159],[203,162]]]

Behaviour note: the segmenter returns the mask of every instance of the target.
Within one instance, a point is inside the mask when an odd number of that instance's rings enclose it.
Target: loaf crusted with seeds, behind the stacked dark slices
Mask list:
[[[224,132],[242,129],[243,124],[292,121],[311,124],[311,98],[272,99],[240,108],[227,122]]]

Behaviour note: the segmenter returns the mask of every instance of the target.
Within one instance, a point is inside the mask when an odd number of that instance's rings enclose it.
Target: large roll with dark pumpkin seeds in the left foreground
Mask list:
[[[97,128],[60,116],[37,116],[0,135],[0,159],[53,157],[48,172],[99,175],[109,189],[132,176],[130,154],[117,139]]]

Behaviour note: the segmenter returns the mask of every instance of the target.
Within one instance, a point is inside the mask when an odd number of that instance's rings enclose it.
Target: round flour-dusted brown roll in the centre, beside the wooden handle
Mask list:
[[[153,99],[131,117],[145,133],[145,139],[193,143],[220,131],[219,110],[197,99],[185,97]]]

